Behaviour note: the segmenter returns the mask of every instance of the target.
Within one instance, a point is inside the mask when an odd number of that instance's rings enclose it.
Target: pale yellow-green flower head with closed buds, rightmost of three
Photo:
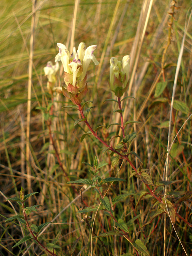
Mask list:
[[[121,97],[127,90],[129,81],[130,56],[125,55],[122,62],[115,57],[110,60],[110,89],[117,97]]]

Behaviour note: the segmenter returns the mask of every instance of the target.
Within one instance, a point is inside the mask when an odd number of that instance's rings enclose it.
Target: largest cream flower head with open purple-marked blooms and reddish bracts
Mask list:
[[[86,73],[91,60],[98,65],[99,62],[93,55],[97,45],[91,45],[86,49],[84,43],[80,43],[78,49],[73,48],[70,56],[64,44],[57,43],[59,53],[55,57],[55,62],[60,61],[64,68],[64,81],[67,90],[63,89],[63,94],[74,104],[79,105],[87,92]]]

